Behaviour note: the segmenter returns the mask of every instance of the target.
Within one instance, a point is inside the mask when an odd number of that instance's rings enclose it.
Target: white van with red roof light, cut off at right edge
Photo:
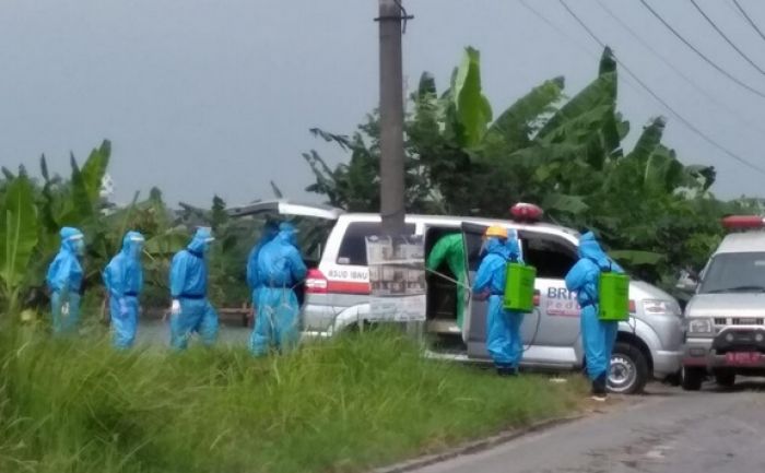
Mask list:
[[[684,287],[695,289],[685,307],[683,388],[691,391],[708,375],[723,387],[739,375],[765,376],[765,218],[731,215],[722,224],[732,233]]]

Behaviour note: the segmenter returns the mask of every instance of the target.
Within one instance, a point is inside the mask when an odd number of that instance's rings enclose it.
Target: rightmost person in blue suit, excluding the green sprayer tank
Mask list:
[[[598,284],[602,271],[623,273],[624,270],[601,249],[591,232],[579,238],[579,261],[566,274],[566,287],[576,292],[581,307],[581,341],[585,348],[587,376],[592,382],[592,395],[605,400],[611,352],[616,341],[619,322],[598,317]]]

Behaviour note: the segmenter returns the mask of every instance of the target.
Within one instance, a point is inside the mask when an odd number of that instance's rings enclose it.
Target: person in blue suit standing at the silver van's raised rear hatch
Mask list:
[[[295,286],[306,276],[306,265],[297,249],[296,229],[290,223],[279,225],[279,235],[258,255],[258,312],[250,338],[250,350],[263,355],[270,346],[291,348],[298,339],[299,306]]]

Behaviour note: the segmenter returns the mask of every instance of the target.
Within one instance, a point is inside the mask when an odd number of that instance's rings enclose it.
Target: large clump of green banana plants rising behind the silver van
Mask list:
[[[709,192],[715,169],[687,166],[662,144],[663,118],[623,150],[629,123],[617,111],[619,71],[609,48],[593,81],[570,98],[563,78],[553,78],[493,121],[480,66],[478,51],[467,48],[446,91],[424,73],[411,95],[405,152],[417,172],[410,191],[425,191],[408,211],[429,201],[432,212],[507,217],[514,202],[541,203],[555,222],[599,229],[615,255],[655,281],[706,257],[725,211]],[[378,178],[377,125],[365,123],[351,139],[321,133],[351,161],[332,169],[318,153],[307,154],[316,176],[308,190],[348,210],[376,211],[369,182]]]

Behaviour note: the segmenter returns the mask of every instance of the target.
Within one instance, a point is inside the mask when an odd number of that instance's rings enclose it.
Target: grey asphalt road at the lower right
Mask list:
[[[765,472],[765,382],[695,393],[650,389],[609,401],[581,421],[417,473]]]

